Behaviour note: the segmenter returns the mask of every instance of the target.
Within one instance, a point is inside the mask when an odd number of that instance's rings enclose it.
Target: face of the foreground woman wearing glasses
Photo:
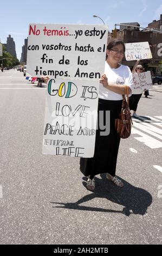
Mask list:
[[[107,59],[112,62],[119,63],[124,57],[124,47],[120,45],[113,46],[111,49],[106,51]]]

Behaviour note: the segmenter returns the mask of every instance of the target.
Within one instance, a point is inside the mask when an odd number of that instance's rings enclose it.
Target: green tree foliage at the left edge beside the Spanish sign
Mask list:
[[[3,60],[1,60],[3,59]],[[3,56],[0,57],[0,63],[3,67],[12,68],[13,66],[17,66],[20,64],[19,60],[13,57],[9,52],[5,52],[5,47],[3,46]]]

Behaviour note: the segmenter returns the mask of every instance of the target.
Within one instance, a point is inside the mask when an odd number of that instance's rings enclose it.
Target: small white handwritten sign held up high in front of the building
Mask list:
[[[151,59],[152,54],[148,42],[133,42],[125,44],[126,60]]]

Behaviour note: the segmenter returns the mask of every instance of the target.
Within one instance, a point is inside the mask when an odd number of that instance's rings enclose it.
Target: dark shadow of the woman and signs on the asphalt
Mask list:
[[[59,204],[60,206],[53,206],[53,208],[66,208],[82,211],[100,211],[100,212],[114,212],[121,213],[126,216],[130,214],[145,215],[147,213],[148,206],[152,203],[152,196],[146,190],[138,187],[134,187],[127,181],[124,181],[125,186],[120,188],[113,184],[113,182],[106,179],[106,174],[100,175],[102,179],[95,177],[95,190],[92,194],[87,194],[75,203],[60,203],[51,202],[51,204]],[[87,178],[83,177],[83,186],[86,187]],[[94,198],[106,198],[107,200],[123,205],[122,211],[95,208],[89,206],[82,206],[81,203],[88,202]],[[62,205],[62,206],[61,206]],[[108,206],[108,202],[107,202]]]

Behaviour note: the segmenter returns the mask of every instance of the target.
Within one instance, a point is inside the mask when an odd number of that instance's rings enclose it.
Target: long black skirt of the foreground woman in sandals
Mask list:
[[[119,117],[121,111],[122,100],[102,100],[99,99],[98,106],[98,129],[96,130],[95,139],[95,151],[94,157],[92,158],[81,158],[80,159],[80,170],[85,176],[95,176],[101,173],[109,173],[115,176],[116,161],[118,157],[118,149],[120,144],[120,136],[115,130],[115,118]],[[109,135],[101,135],[103,132],[100,127],[101,115],[99,112],[102,111],[104,116],[104,122],[106,121],[106,111],[109,111]],[[102,128],[103,129],[103,128]]]

